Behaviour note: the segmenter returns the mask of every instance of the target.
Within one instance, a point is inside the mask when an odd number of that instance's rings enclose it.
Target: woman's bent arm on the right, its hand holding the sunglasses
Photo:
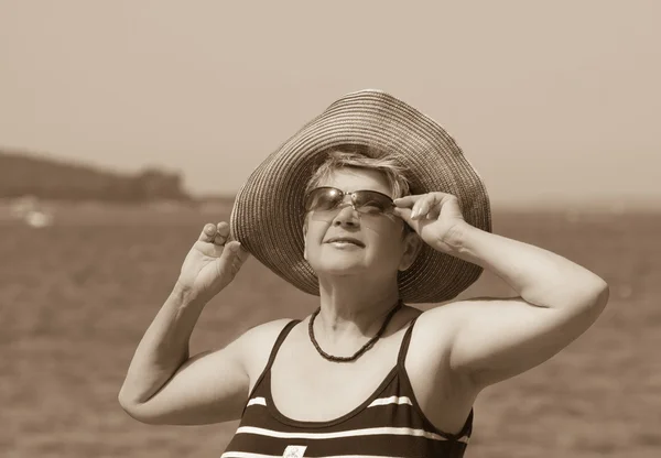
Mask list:
[[[423,240],[495,273],[519,294],[460,301],[421,316],[418,330],[430,345],[440,329],[448,336],[438,351],[449,370],[484,388],[548,360],[596,320],[608,301],[604,280],[550,251],[474,228],[453,196],[433,194],[412,203],[416,216],[407,214],[419,233],[426,230]]]

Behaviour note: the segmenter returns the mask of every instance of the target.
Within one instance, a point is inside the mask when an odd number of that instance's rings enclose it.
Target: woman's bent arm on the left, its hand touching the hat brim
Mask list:
[[[119,403],[144,423],[203,424],[237,418],[248,394],[247,332],[221,350],[188,355],[207,302],[231,282],[247,253],[226,239],[226,222],[205,226],[180,279],[147,329],[119,392]]]

